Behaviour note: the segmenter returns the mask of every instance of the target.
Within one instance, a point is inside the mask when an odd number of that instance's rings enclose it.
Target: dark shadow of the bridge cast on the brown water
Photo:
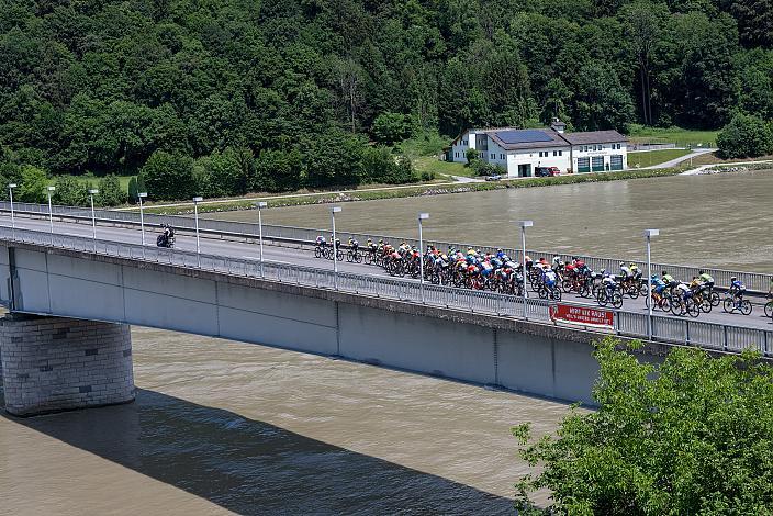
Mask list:
[[[511,500],[154,391],[51,416],[1,412],[240,514],[513,513]]]

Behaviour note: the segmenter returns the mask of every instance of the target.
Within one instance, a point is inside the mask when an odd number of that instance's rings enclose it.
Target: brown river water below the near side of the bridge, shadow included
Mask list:
[[[137,401],[0,416],[0,514],[512,514],[567,405],[133,328]],[[541,498],[545,501],[545,498]]]

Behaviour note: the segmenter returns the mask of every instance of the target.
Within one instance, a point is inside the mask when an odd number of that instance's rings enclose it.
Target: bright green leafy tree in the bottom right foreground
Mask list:
[[[513,429],[522,456],[542,468],[518,482],[519,508],[549,489],[545,514],[769,513],[773,368],[751,351],[714,358],[688,348],[639,363],[616,345],[596,345],[596,412],[573,411],[557,436],[536,442],[528,424]]]

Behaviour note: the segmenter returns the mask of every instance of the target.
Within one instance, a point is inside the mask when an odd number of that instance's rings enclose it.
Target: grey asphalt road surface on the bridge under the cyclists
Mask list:
[[[0,225],[10,227],[10,215],[0,215]],[[33,229],[44,233],[48,233],[51,231],[49,222],[47,218],[27,218],[16,216],[15,225],[16,228],[20,229]],[[54,221],[54,233],[58,235],[71,235],[91,238],[92,228],[90,224],[77,224],[68,221]],[[158,228],[146,228],[145,244],[149,247],[154,247],[156,245],[156,237],[159,234],[160,229]],[[343,236],[346,235],[346,232],[341,232],[339,234]],[[97,238],[135,245],[138,245],[142,242],[139,228],[114,227],[111,225],[100,224],[97,225]],[[244,242],[221,240],[208,237],[202,237],[200,239],[200,243],[202,254],[233,258],[251,258],[255,260],[260,259],[260,249],[257,243],[247,244]],[[195,236],[188,234],[181,235],[180,233],[178,233],[176,235],[175,248],[195,253]],[[268,244],[268,240],[264,240],[264,257],[267,261],[280,261],[284,263],[295,263],[301,266],[314,267],[317,269],[333,270],[333,260],[314,258],[314,253],[310,248],[298,249],[279,247]],[[389,278],[389,274],[380,267],[368,266],[365,263],[350,263],[347,262],[346,259],[338,262],[338,270],[340,272],[383,276]],[[687,278],[677,279],[685,280]],[[405,280],[418,281],[410,277],[406,277]],[[529,295],[536,296],[537,294],[529,291]],[[562,300],[597,306],[593,300],[584,299],[576,294],[563,294]],[[628,296],[624,296],[623,310],[626,312],[647,313],[645,298],[639,296],[636,300],[631,300]],[[670,315],[663,314],[663,312],[657,310],[653,312],[653,314]],[[771,319],[770,317],[765,317],[763,307],[759,304],[754,305],[754,310],[752,311],[751,315],[748,316],[741,315],[739,313],[727,314],[722,311],[720,304],[719,306],[715,306],[708,314],[702,313],[698,317],[695,318],[686,315],[683,317],[688,318],[690,321],[727,324],[732,326],[742,326],[757,329],[770,330],[771,328],[773,328],[773,319]]]

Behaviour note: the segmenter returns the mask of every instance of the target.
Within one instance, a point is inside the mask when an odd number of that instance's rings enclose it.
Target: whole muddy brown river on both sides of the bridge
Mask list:
[[[751,171],[343,204],[338,226],[773,272],[773,173]],[[216,216],[251,220],[254,212]],[[321,226],[327,206],[267,223]],[[135,403],[0,416],[3,514],[507,514],[509,428],[567,405],[221,339],[133,328]],[[540,501],[545,501],[542,495]]]

